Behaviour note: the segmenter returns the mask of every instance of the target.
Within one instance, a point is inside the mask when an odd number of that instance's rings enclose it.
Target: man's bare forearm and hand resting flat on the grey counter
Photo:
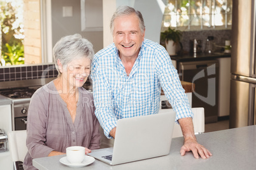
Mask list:
[[[179,119],[181,131],[184,136],[184,144],[180,149],[180,155],[185,155],[185,152],[190,152],[194,154],[196,159],[199,159],[199,155],[203,158],[209,158],[212,154],[209,150],[204,148],[203,145],[197,143],[196,136],[194,134],[194,126],[191,117],[186,117]]]

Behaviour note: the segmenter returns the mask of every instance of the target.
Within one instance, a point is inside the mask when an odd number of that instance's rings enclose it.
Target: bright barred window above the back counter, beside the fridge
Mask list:
[[[162,30],[231,29],[232,0],[167,0]]]

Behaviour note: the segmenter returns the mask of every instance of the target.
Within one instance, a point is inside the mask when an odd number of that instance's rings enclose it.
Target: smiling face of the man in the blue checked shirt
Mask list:
[[[145,30],[141,32],[138,16],[135,14],[118,16],[115,19],[113,41],[120,58],[137,58],[144,37]]]

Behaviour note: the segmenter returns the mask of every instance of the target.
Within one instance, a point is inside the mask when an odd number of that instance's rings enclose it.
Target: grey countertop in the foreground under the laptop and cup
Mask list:
[[[255,169],[256,125],[197,134],[197,141],[213,154],[209,159],[195,159],[192,152],[180,156],[183,137],[173,138],[169,155],[109,166],[99,160],[89,166],[71,168],[59,162],[61,157],[33,159],[38,169]]]

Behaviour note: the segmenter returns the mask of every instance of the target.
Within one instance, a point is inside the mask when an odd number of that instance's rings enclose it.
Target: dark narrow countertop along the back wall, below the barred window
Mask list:
[[[176,60],[176,62],[194,62],[194,61],[203,61],[203,60],[215,60],[217,58],[226,58],[231,57],[230,53],[196,53],[187,54],[187,55],[177,55],[171,56],[171,60]]]

